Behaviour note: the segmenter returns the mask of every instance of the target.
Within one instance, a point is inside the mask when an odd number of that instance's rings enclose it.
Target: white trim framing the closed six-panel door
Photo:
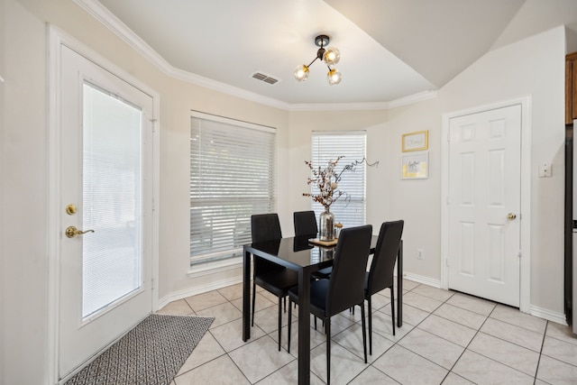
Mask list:
[[[531,96],[480,105],[443,115],[441,142],[441,288],[449,287],[447,254],[449,251],[449,121],[452,118],[488,110],[521,105],[521,261],[519,272],[519,310],[528,313],[531,302]]]

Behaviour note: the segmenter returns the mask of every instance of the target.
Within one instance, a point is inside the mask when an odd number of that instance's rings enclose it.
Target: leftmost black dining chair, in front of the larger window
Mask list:
[[[252,243],[279,241],[282,238],[279,215],[258,214],[251,216]],[[282,298],[287,298],[289,289],[298,284],[298,272],[275,262],[254,256],[252,264],[252,326],[254,326],[254,305],[256,285],[279,298],[279,351],[282,330]]]

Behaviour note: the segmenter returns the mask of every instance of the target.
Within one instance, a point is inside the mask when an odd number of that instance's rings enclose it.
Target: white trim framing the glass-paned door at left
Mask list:
[[[59,290],[60,290],[60,243],[57,241],[62,234],[62,226],[60,224],[60,213],[58,207],[60,206],[60,49],[62,45],[69,47],[71,50],[77,51],[79,54],[93,61],[103,69],[116,74],[125,81],[131,83],[134,87],[142,90],[152,98],[152,111],[155,121],[153,122],[152,132],[152,310],[158,309],[159,293],[158,293],[158,278],[159,278],[159,206],[160,197],[160,95],[152,90],[150,87],[142,84],[142,82],[124,69],[114,65],[103,56],[96,53],[94,50],[88,49],[83,43],[77,41],[66,32],[62,32],[59,28],[47,24],[46,27],[48,57],[47,64],[48,78],[47,78],[47,95],[48,102],[48,234],[47,234],[47,249],[48,249],[48,344],[47,344],[47,383],[56,384],[59,381]]]

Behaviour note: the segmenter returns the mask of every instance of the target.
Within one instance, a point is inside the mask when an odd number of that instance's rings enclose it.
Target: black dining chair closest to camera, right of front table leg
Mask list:
[[[315,280],[310,284],[310,312],[325,323],[327,385],[331,383],[331,317],[356,305],[361,307],[362,347],[364,362],[367,363],[364,275],[371,251],[371,233],[371,225],[344,229],[336,244],[331,278]],[[289,353],[292,302],[301,302],[301,298],[298,298],[298,286],[289,289]]]

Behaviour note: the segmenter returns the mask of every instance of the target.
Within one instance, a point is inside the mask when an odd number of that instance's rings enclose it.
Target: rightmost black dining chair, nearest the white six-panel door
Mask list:
[[[393,221],[380,225],[379,239],[372,256],[371,268],[365,273],[364,298],[369,310],[369,354],[372,355],[372,309],[371,297],[382,289],[390,289],[390,312],[393,321],[393,335],[395,335],[395,293],[393,292],[393,271],[397,261],[403,226],[405,222]],[[397,278],[402,280],[401,277]]]

